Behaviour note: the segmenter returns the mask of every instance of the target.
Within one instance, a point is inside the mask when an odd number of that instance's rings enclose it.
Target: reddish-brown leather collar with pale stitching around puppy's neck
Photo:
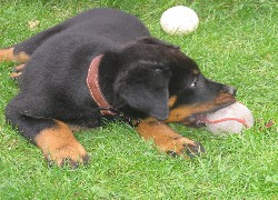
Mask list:
[[[116,113],[111,112],[109,109],[112,107],[106,101],[103,94],[100,91],[99,87],[99,63],[103,54],[96,57],[90,64],[88,76],[87,76],[87,86],[90,90],[92,99],[100,108],[102,114],[115,116]]]

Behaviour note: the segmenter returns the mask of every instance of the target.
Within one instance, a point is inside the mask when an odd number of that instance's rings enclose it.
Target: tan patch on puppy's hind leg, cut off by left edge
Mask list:
[[[21,51],[19,53],[14,53],[13,50],[13,48],[0,49],[0,62],[17,61],[24,63],[30,59],[30,56],[28,56],[26,52]]]

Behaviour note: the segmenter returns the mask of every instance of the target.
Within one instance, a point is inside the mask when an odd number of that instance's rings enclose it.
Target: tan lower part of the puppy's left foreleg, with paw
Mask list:
[[[62,166],[64,160],[82,162],[87,158],[86,150],[77,141],[69,127],[60,121],[57,126],[42,130],[34,139],[48,160]]]

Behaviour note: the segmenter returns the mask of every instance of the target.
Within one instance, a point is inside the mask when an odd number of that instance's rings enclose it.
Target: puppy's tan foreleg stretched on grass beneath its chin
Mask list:
[[[199,142],[180,136],[163,122],[141,121],[136,130],[145,140],[153,140],[159,150],[171,156],[187,153],[192,158],[205,151]]]

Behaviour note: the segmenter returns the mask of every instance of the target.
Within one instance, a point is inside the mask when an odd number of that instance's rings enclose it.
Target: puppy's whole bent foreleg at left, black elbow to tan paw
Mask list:
[[[21,114],[11,104],[6,109],[6,117],[12,127],[42,150],[48,161],[60,167],[67,161],[73,168],[88,162],[86,150],[63,122]]]

